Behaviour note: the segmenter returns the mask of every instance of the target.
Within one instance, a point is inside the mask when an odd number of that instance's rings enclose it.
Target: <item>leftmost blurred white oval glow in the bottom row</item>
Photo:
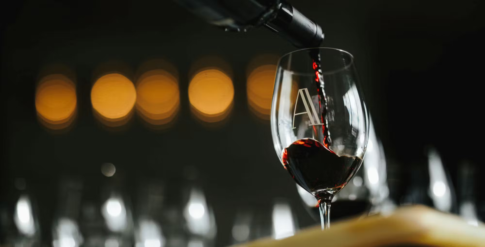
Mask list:
[[[27,196],[21,196],[15,208],[15,224],[19,232],[32,236],[35,233],[32,205]]]

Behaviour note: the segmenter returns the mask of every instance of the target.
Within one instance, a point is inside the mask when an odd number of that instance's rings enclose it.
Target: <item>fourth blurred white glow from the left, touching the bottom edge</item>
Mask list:
[[[163,247],[165,237],[159,224],[151,219],[140,220],[138,229],[135,232],[137,247]]]

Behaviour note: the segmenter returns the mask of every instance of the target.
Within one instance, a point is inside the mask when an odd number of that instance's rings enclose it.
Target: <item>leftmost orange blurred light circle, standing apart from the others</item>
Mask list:
[[[35,92],[35,109],[39,122],[49,129],[68,127],[75,119],[77,107],[76,86],[62,74],[40,79]]]

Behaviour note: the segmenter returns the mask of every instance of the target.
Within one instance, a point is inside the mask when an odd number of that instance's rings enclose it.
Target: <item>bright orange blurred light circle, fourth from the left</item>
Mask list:
[[[232,80],[219,69],[197,73],[189,84],[189,101],[195,115],[205,122],[218,122],[226,117],[234,98]]]

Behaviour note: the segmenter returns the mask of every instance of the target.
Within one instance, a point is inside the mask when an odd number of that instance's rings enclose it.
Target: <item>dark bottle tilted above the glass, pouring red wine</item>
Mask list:
[[[176,0],[195,15],[226,31],[266,26],[297,47],[316,47],[322,28],[289,3],[280,0]]]

